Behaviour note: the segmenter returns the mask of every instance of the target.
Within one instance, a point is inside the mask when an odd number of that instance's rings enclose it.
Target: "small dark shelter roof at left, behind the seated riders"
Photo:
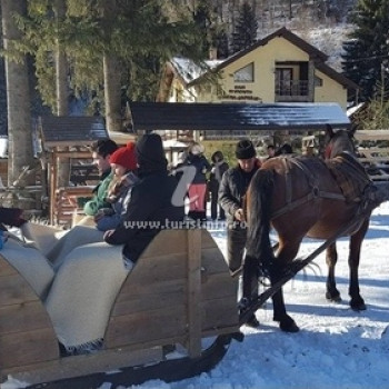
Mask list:
[[[41,117],[39,129],[46,147],[87,146],[109,137],[98,117]]]

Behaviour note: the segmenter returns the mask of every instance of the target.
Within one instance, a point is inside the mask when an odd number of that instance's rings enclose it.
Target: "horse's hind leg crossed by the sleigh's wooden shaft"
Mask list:
[[[300,241],[285,245],[282,239],[279,241],[279,250],[277,253],[276,261],[278,265],[277,269],[273,267],[270,272],[271,285],[278,282],[282,277],[282,269],[297,256]],[[295,320],[287,313],[283,301],[282,288],[277,291],[272,297],[273,305],[273,320],[279,321],[280,329],[286,332],[297,332],[299,327],[296,325]]]

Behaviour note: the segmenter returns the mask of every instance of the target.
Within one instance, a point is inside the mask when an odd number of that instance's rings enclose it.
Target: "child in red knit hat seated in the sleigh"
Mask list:
[[[136,176],[137,156],[136,144],[127,143],[116,150],[110,157],[113,179],[108,188],[106,201],[110,208],[102,208],[94,216],[96,227],[100,231],[114,229],[127,212],[131,188],[139,180]]]

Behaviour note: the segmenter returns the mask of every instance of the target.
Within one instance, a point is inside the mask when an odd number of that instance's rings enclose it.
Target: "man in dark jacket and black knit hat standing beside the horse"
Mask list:
[[[236,147],[238,166],[227,170],[220,183],[219,203],[227,216],[227,261],[231,272],[240,269],[243,260],[247,239],[243,198],[251,178],[260,167],[256,154],[256,149],[249,139],[239,141]],[[258,293],[258,285],[255,292]],[[259,326],[255,315],[247,325]]]

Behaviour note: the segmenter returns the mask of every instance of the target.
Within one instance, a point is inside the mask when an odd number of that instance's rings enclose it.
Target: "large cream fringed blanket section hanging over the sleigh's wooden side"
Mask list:
[[[101,342],[112,305],[129,268],[122,246],[104,242],[76,248],[63,260],[46,300],[59,341],[68,352]]]

